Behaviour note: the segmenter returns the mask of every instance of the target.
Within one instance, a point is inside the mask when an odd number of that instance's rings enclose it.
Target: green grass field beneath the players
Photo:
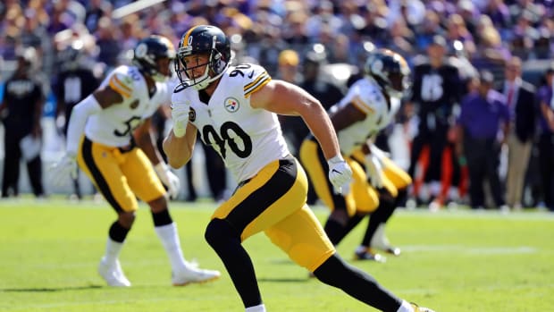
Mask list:
[[[185,257],[222,278],[170,285],[170,266],[146,206],[122,251],[133,286],[114,289],[97,275],[113,210],[63,199],[0,201],[0,311],[244,311],[229,275],[204,240],[211,203],[172,203]],[[315,207],[324,220],[327,210]],[[387,233],[403,253],[385,264],[351,261],[365,223],[340,254],[400,297],[441,312],[554,310],[554,215],[464,209],[398,211]],[[294,265],[264,234],[245,242],[269,311],[371,311]]]

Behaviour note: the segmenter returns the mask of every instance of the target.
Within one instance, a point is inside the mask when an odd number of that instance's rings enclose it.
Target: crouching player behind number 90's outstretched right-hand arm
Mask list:
[[[308,136],[300,148],[300,158],[318,197],[332,211],[324,229],[333,244],[337,245],[365,215],[371,214],[364,240],[355,252],[357,259],[383,261],[370,246],[395,256],[400,253],[390,246],[384,224],[404,198],[411,178],[374,146],[374,137],[398,112],[400,99],[409,88],[409,76],[410,69],[401,55],[376,49],[365,61],[364,77],[332,106],[330,116],[340,149],[353,171],[354,182],[345,196],[333,194],[322,179],[327,164],[313,136]]]

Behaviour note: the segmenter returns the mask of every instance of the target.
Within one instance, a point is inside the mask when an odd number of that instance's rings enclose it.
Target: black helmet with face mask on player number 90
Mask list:
[[[208,55],[207,63],[189,65],[184,58],[189,55]],[[222,30],[215,26],[198,25],[185,32],[180,38],[175,60],[175,72],[182,87],[205,89],[212,81],[220,78],[231,64],[231,44]],[[206,66],[200,77],[190,77],[191,70]],[[183,74],[184,73],[184,74]]]

